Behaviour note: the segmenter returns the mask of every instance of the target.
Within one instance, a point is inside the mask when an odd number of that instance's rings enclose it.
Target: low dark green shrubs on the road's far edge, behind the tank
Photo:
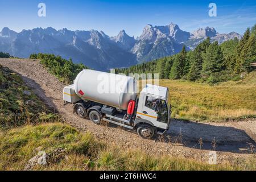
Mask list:
[[[75,80],[77,74],[86,69],[84,64],[74,64],[72,59],[65,60],[61,56],[46,53],[30,55],[30,59],[39,59],[40,63],[48,69],[50,73],[59,78],[61,82],[70,84]]]

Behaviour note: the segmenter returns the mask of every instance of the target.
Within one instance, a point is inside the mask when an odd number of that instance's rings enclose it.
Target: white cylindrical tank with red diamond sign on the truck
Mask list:
[[[135,100],[137,95],[137,85],[133,77],[90,69],[84,69],[77,75],[74,86],[76,94],[82,100],[122,110],[127,110],[128,102]]]

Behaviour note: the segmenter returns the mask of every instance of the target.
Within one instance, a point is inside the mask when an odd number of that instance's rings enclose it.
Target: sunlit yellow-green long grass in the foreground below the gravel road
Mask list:
[[[27,125],[0,133],[0,170],[22,170],[37,154],[36,148],[52,154],[65,149],[64,156],[51,156],[47,166],[33,170],[255,170],[256,160],[209,165],[193,159],[147,155],[99,142],[90,133],[79,133],[63,123]]]

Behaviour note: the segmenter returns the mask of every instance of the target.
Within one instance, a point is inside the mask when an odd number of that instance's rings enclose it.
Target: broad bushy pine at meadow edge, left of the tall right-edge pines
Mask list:
[[[214,42],[210,44],[207,48],[206,52],[203,53],[203,67],[201,71],[201,75],[203,78],[207,78],[212,73],[220,72],[224,69],[224,56],[222,54],[220,46],[218,46],[218,42]]]

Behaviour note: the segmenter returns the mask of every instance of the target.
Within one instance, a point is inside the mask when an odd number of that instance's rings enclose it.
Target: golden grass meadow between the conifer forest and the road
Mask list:
[[[256,72],[243,80],[208,85],[181,80],[160,80],[170,90],[172,117],[193,121],[228,121],[256,118]]]

